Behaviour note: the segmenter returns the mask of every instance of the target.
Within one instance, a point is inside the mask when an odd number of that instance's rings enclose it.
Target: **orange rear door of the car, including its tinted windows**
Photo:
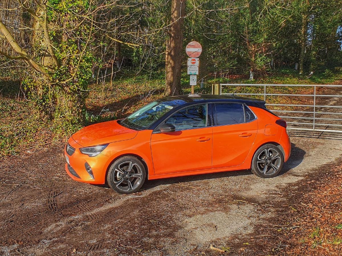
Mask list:
[[[213,109],[213,168],[241,165],[257,135],[257,118],[240,103],[215,103]]]

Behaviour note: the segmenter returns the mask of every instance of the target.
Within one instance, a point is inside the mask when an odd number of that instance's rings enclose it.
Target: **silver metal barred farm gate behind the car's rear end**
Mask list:
[[[247,87],[253,93],[244,93]],[[233,92],[265,100],[269,110],[286,120],[289,130],[342,133],[342,85],[213,85],[213,94]]]

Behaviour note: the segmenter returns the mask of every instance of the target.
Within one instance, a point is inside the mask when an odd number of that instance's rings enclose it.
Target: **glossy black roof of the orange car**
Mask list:
[[[247,98],[247,97],[238,97],[235,95],[211,95],[211,94],[188,94],[188,95],[177,95],[170,96],[160,99],[160,101],[176,101],[177,105],[188,105],[189,103],[200,103],[200,102],[218,102],[218,101],[229,101],[229,102],[237,102],[237,103],[245,103],[247,105],[258,105],[265,106],[265,101]]]

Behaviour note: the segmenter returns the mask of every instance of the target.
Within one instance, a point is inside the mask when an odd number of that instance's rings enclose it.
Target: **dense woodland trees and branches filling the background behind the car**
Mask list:
[[[172,43],[173,36],[180,41]],[[179,80],[179,74],[168,74],[180,72],[181,65],[171,65],[168,54],[178,50],[176,59],[185,63],[184,47],[193,40],[203,46],[201,77],[250,73],[252,79],[296,63],[299,72],[335,68],[342,62],[342,2],[0,3],[0,72],[16,72],[42,114],[54,120],[82,122],[88,84],[112,81],[125,68],[152,73],[166,66],[167,84],[177,86],[171,80]]]

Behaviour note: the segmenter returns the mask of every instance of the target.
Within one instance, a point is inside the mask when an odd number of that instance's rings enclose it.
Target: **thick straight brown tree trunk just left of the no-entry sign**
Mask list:
[[[169,40],[166,52],[165,95],[178,95],[181,90],[183,57],[183,19],[185,0],[172,0]]]

